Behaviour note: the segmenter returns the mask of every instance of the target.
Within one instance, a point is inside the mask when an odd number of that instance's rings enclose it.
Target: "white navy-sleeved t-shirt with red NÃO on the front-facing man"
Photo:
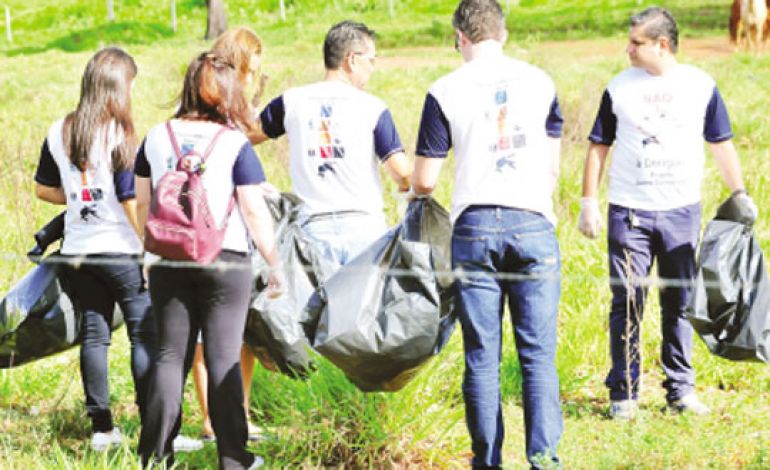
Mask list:
[[[691,65],[665,75],[638,67],[608,85],[589,139],[613,145],[609,202],[669,210],[700,201],[703,140],[732,137],[714,80]]]

